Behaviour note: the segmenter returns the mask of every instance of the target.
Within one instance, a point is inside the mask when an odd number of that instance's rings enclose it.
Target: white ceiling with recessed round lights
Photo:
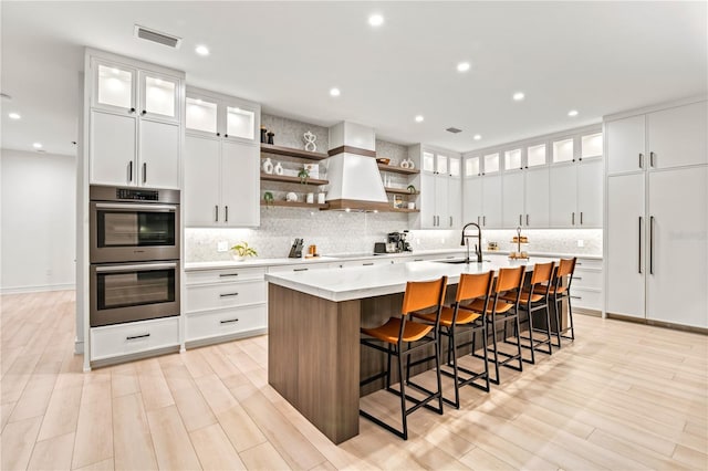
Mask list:
[[[702,95],[699,2],[2,1],[2,147],[75,154],[88,45],[183,70],[187,83],[324,126],[465,151]],[[372,13],[384,15],[372,28]],[[135,39],[138,23],[184,39]],[[195,54],[206,44],[207,57]],[[456,65],[471,67],[459,73]],[[331,87],[342,95],[331,97]],[[512,95],[523,92],[525,100]],[[570,109],[577,109],[569,117]],[[8,113],[22,118],[13,121]],[[425,121],[416,123],[414,117]],[[462,133],[445,129],[455,126]],[[480,140],[472,136],[479,134]]]

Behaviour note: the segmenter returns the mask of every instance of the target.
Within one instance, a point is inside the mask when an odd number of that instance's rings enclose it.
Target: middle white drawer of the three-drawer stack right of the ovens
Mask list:
[[[266,282],[218,283],[187,286],[186,312],[266,302]]]

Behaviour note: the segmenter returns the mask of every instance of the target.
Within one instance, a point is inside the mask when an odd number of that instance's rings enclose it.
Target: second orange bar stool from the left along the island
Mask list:
[[[476,299],[481,299],[483,301],[483,310],[486,311],[489,304],[489,296],[494,279],[493,276],[493,271],[479,274],[462,273],[457,285],[457,295],[455,299],[455,303],[451,307],[444,306],[440,313],[439,334],[441,336],[448,337],[447,364],[444,366],[451,368],[451,371],[448,369],[441,369],[440,373],[455,379],[455,400],[450,400],[445,396],[442,397],[442,400],[446,404],[455,407],[456,409],[460,408],[460,388],[462,386],[470,385],[489,393],[487,324],[485,323],[485,318],[481,314],[473,311],[460,308],[460,305],[465,302],[471,302]],[[436,316],[433,313],[413,315],[430,324],[435,324],[436,322]],[[457,350],[468,345],[472,345],[473,348],[475,335],[478,332],[481,332],[482,338],[482,352],[485,359],[483,371],[472,371],[469,368],[459,366],[457,362]],[[467,334],[471,334],[470,339],[465,343],[458,343],[460,335],[466,336]],[[462,371],[465,375],[467,375],[467,377],[460,378],[459,371]],[[482,381],[481,384],[479,384],[480,380]]]

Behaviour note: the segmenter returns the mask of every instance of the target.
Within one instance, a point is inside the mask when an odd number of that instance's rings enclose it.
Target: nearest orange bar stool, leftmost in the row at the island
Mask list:
[[[400,317],[391,317],[384,325],[378,327],[362,327],[364,335],[362,345],[384,352],[387,355],[387,367],[371,378],[364,379],[360,386],[367,385],[376,379],[386,378],[386,390],[400,397],[402,430],[398,430],[383,420],[372,416],[369,412],[360,409],[360,415],[374,423],[385,428],[396,436],[408,439],[407,417],[421,407],[426,407],[438,414],[442,414],[442,386],[440,380],[440,345],[439,345],[439,320],[445,302],[445,290],[447,287],[447,276],[435,281],[408,282],[403,297]],[[435,310],[435,322],[433,325],[410,321],[407,317],[417,311]],[[431,391],[409,380],[410,355],[433,346],[435,352],[435,371],[437,377],[437,391]],[[398,358],[399,389],[391,387],[391,357]],[[404,360],[408,367],[404,376]],[[424,398],[414,398],[406,394],[406,386],[410,386],[424,394]],[[438,407],[434,408],[429,402],[436,400]],[[414,402],[407,407],[406,400]]]

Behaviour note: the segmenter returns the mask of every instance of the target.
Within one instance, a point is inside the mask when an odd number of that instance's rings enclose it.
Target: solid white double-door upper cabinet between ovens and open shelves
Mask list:
[[[258,226],[259,148],[191,134],[185,147],[185,224]]]

